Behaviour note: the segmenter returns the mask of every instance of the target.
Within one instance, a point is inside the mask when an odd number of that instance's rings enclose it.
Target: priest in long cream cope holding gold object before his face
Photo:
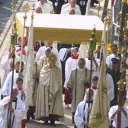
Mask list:
[[[45,65],[40,72],[39,85],[37,88],[35,118],[51,124],[63,119],[62,102],[62,77],[61,71],[56,66],[57,57],[51,54],[49,64]]]

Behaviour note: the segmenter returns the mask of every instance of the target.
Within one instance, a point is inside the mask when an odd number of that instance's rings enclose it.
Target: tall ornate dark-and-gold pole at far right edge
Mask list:
[[[126,77],[126,55],[127,49],[124,43],[124,25],[125,25],[125,16],[126,16],[126,7],[127,0],[122,0],[122,9],[120,17],[120,30],[119,30],[119,54],[123,52],[123,59],[121,59],[121,68],[120,68],[120,80],[118,82],[119,95],[118,95],[118,106],[122,106],[123,91],[125,89],[125,77]],[[117,114],[117,128],[121,128],[121,114]]]

